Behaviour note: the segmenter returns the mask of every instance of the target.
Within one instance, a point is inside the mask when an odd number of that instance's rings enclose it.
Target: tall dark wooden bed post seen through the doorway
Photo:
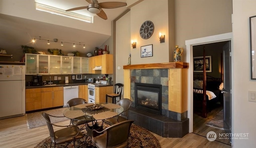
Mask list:
[[[207,117],[207,111],[206,111],[206,63],[205,63],[205,47],[204,47],[204,58],[203,58],[203,104],[202,104],[202,117],[206,118]]]

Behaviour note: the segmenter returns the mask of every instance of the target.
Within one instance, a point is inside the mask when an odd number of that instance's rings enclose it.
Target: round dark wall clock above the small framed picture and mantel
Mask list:
[[[154,32],[154,24],[151,21],[145,21],[140,26],[140,37],[142,39],[148,39]]]

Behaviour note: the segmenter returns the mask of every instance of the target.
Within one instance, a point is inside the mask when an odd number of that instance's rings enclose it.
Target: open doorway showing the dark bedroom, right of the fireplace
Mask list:
[[[200,136],[207,136],[207,133],[214,131],[217,135],[216,141],[231,145],[226,138],[219,137],[220,134],[230,133],[224,130],[224,101],[223,85],[224,73],[230,73],[224,69],[224,49],[230,41],[219,41],[201,45],[194,45],[194,71],[193,71],[193,133]],[[203,63],[199,60],[205,51],[206,55],[206,111],[207,117],[202,117],[202,90]],[[199,62],[198,62],[199,61]],[[230,77],[228,77],[230,79]],[[201,83],[200,83],[201,82]],[[228,83],[229,81],[225,81]],[[200,86],[201,84],[201,86]],[[213,95],[212,97],[210,97]],[[226,107],[227,108],[227,107]]]

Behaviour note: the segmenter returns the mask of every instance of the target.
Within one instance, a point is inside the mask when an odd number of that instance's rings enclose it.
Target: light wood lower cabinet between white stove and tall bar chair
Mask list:
[[[106,102],[106,94],[114,93],[113,86],[95,87],[95,102]]]

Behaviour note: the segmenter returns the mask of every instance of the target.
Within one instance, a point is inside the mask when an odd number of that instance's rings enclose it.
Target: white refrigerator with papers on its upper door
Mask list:
[[[0,65],[0,119],[25,112],[25,65]]]

